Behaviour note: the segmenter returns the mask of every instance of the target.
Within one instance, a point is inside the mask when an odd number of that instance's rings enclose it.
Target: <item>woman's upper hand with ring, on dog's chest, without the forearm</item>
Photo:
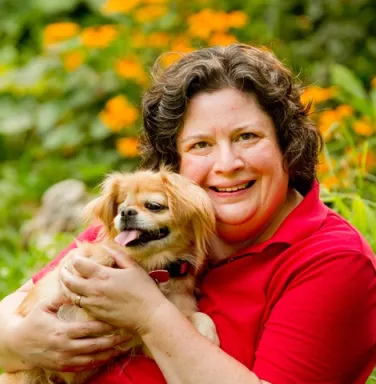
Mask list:
[[[63,292],[72,302],[77,295],[82,296],[81,307],[95,318],[143,334],[153,313],[167,299],[154,280],[125,252],[106,249],[120,269],[75,256],[69,266],[61,268]]]

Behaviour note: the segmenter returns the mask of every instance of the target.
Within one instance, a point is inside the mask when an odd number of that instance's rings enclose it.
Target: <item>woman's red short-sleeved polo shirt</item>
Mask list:
[[[95,229],[80,236],[95,237]],[[315,184],[271,239],[212,266],[199,307],[216,323],[221,348],[263,380],[365,383],[376,362],[375,275],[369,245],[319,200]],[[98,383],[165,380],[140,356],[107,365],[90,381]]]

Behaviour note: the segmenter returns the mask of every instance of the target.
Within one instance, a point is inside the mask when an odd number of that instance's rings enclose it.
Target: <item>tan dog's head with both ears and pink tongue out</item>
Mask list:
[[[85,216],[101,222],[105,237],[139,255],[188,245],[205,254],[215,230],[206,192],[166,169],[110,174]]]

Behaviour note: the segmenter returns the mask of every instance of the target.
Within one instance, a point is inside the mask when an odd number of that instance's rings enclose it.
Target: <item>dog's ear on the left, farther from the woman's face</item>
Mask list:
[[[86,205],[83,210],[85,223],[99,222],[109,233],[114,226],[114,218],[117,214],[117,198],[119,195],[122,175],[114,172],[108,175],[101,184],[101,194]]]

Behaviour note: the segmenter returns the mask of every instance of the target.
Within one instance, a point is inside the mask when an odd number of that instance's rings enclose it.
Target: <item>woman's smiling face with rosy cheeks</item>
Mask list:
[[[180,174],[209,194],[219,236],[256,240],[286,203],[288,175],[272,119],[232,88],[191,100],[178,137]]]

